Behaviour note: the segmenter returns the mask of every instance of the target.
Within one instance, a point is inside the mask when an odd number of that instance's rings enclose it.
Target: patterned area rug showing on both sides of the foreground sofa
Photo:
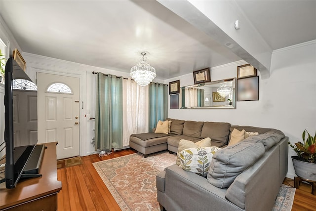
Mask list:
[[[175,164],[175,154],[156,153],[143,158],[140,153],[93,163],[122,211],[160,211],[156,175]],[[290,211],[295,188],[280,187],[273,211]]]

